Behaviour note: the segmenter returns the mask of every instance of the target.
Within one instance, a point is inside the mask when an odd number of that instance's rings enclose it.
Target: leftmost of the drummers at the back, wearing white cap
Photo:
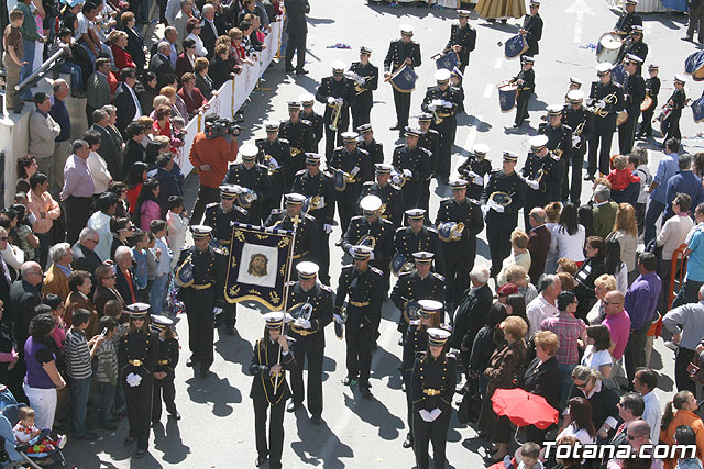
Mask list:
[[[384,59],[384,80],[388,81],[404,64],[410,68],[420,67],[420,44],[413,41],[414,26],[409,24],[400,25],[400,38],[392,41]],[[408,126],[408,114],[410,112],[410,92],[400,92],[394,88],[394,104],[396,105],[396,125],[392,131],[403,133]]]

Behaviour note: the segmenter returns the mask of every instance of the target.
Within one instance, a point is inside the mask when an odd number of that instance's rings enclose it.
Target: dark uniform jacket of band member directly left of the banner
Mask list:
[[[194,269],[194,283],[179,287],[177,297],[189,310],[212,310],[224,305],[224,280],[228,259],[220,249],[208,246],[200,252],[196,246],[183,249],[176,272],[190,263]]]

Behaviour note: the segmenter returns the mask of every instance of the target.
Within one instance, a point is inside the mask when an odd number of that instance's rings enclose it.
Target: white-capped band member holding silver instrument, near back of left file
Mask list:
[[[344,77],[344,62],[332,63],[332,76],[322,79],[316,91],[318,102],[326,104],[326,158],[329,161],[332,150],[342,144],[342,134],[350,125],[350,107],[356,102],[356,91],[352,80]]]

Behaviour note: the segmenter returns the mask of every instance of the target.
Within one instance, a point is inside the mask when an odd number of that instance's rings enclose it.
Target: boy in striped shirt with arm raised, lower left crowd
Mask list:
[[[70,382],[70,429],[76,439],[96,439],[98,435],[88,432],[86,427],[86,411],[88,394],[90,393],[90,377],[92,376],[91,359],[96,350],[105,342],[102,335],[96,335],[86,340],[86,327],[90,320],[90,312],[78,308],[72,315],[73,326],[66,333],[64,345],[66,359],[66,375]]]

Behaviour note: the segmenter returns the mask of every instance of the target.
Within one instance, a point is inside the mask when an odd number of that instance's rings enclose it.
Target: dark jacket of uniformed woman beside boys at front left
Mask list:
[[[158,335],[155,332],[128,332],[118,346],[120,375],[124,378],[129,373],[134,373],[141,376],[143,380],[151,379],[156,370],[158,349]]]

